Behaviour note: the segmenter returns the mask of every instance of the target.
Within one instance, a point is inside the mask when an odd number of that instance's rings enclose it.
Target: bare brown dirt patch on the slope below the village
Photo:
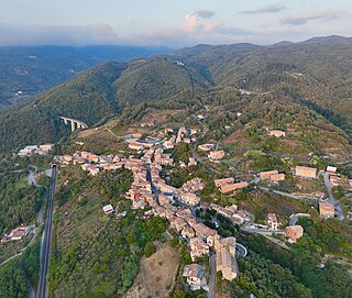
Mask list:
[[[168,297],[174,287],[178,253],[168,244],[157,243],[157,251],[141,260],[141,271],[124,298]]]

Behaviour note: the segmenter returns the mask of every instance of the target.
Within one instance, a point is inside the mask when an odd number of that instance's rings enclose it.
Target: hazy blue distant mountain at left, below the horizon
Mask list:
[[[0,47],[0,107],[42,92],[102,62],[127,62],[169,51],[139,46]]]

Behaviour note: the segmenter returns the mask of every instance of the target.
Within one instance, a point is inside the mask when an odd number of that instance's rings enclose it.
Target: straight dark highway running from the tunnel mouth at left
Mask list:
[[[57,175],[57,166],[53,165],[53,175],[52,175],[52,184],[47,198],[47,209],[46,209],[46,223],[45,229],[43,231],[42,244],[41,244],[41,271],[40,271],[40,279],[37,285],[37,298],[46,298],[47,297],[47,284],[46,276],[48,269],[48,262],[51,257],[51,242],[52,242],[52,232],[53,232],[53,214],[54,214],[54,192],[56,187],[56,175]]]

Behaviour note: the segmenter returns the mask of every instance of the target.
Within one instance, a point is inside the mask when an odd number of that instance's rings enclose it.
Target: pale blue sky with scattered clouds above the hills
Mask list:
[[[273,44],[351,29],[351,0],[0,0],[0,46]]]

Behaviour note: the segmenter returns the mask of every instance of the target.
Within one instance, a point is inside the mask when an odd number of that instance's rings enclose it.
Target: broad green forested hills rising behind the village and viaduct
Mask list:
[[[105,63],[2,109],[0,151],[57,141],[63,134],[59,115],[92,125],[144,101],[170,107],[175,101],[196,102],[200,95],[231,100],[227,88],[257,95],[282,89],[293,102],[315,110],[351,136],[349,41],[331,36],[266,47],[198,45],[152,58]]]

